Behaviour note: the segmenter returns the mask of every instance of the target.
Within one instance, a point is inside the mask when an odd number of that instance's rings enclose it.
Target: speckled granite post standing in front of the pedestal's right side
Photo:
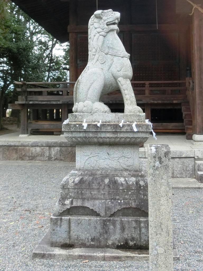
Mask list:
[[[173,270],[171,150],[148,146],[149,270]]]

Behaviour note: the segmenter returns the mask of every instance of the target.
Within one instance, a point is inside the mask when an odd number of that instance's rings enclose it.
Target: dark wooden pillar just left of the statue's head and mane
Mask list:
[[[70,0],[69,3],[70,26],[77,25],[77,0]],[[69,33],[69,81],[77,80],[77,34]],[[69,95],[73,95],[74,85],[70,85]],[[71,90],[72,89],[72,90]]]

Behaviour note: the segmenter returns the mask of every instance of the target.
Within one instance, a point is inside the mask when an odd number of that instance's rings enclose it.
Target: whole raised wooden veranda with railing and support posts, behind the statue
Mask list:
[[[187,85],[186,85],[187,82]],[[15,82],[20,86],[17,91],[21,92],[18,101],[11,104],[11,109],[21,109],[21,133],[29,133],[30,129],[61,130],[61,122],[72,112],[73,107],[73,87],[76,82]],[[151,119],[151,109],[177,109],[183,103],[188,103],[189,97],[188,79],[178,81],[132,81],[132,87],[136,96],[136,101],[144,110],[147,119]],[[60,88],[55,86],[61,85]],[[192,98],[189,98],[192,99]],[[124,108],[123,97],[120,91],[108,93],[102,96],[105,104],[111,104],[111,109]],[[191,103],[192,104],[192,103]],[[61,122],[59,117],[53,120],[53,108],[59,114],[61,112]],[[27,112],[31,109],[32,114],[38,110],[43,111],[46,117],[46,110],[49,110],[49,120],[41,117],[41,120],[28,122]],[[61,110],[61,111],[60,111]],[[60,112],[59,112],[60,111]],[[51,118],[50,118],[50,112]],[[51,120],[51,121],[50,121]],[[157,131],[184,131],[183,123],[155,123]]]

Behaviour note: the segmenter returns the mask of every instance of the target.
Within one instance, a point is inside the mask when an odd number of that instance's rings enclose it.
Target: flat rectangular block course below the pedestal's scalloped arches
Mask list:
[[[148,217],[51,217],[50,245],[149,249]]]

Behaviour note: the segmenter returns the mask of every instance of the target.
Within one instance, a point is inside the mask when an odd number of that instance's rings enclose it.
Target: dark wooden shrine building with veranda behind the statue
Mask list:
[[[61,121],[72,112],[74,82],[87,64],[87,25],[97,1],[13,2],[59,41],[70,43],[70,82],[55,82],[57,88],[47,82],[18,83],[21,96],[10,105],[21,109],[22,134],[60,133]],[[203,8],[203,0],[192,3]],[[188,139],[203,134],[203,13],[194,8],[189,15],[193,5],[187,0],[98,0],[98,9],[121,14],[119,37],[130,53],[132,86],[154,130],[186,133]],[[112,112],[123,112],[120,91],[102,100]]]

